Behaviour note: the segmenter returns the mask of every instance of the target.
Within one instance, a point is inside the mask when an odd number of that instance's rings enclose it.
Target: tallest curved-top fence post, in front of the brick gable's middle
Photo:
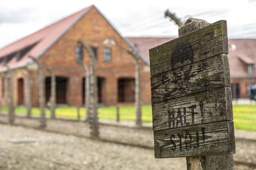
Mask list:
[[[98,89],[97,89],[97,77],[96,77],[96,59],[93,50],[84,41],[78,40],[90,56],[90,102],[89,110],[87,114],[89,116],[89,123],[91,128],[90,135],[92,138],[99,138],[99,123],[98,123]]]

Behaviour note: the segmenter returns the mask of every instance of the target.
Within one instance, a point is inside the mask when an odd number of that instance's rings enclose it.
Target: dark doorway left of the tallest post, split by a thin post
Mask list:
[[[56,77],[56,104],[67,104],[67,83],[68,78]],[[46,102],[51,96],[51,77],[45,79],[45,97]]]

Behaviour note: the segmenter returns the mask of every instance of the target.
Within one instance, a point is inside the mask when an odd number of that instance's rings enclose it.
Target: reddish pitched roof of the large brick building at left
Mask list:
[[[61,38],[74,24],[76,24],[93,7],[96,8],[96,6],[94,5],[84,8],[83,10],[76,12],[75,14],[65,17],[64,19],[59,20],[56,23],[53,23],[45,28],[42,28],[39,31],[34,32],[33,34],[30,34],[27,37],[24,37],[16,42],[13,42],[10,45],[7,45],[4,48],[1,48],[0,61],[1,59],[3,59],[3,57],[10,56],[12,58],[7,63],[7,65],[11,69],[26,66],[29,62],[32,62],[32,60],[29,58],[29,55],[37,58],[41,57],[41,55],[43,55],[57,40],[59,40],[59,38]],[[100,11],[99,13],[103,17],[105,17]],[[108,23],[110,23],[108,19],[106,20],[108,21]],[[113,25],[111,24],[111,26]],[[116,30],[116,28],[114,29]],[[119,31],[116,30],[116,32],[120,34]],[[122,37],[121,34],[120,36]],[[149,62],[146,59],[144,59],[144,57],[140,54],[140,52],[137,51],[137,49],[134,48],[134,46],[127,39],[125,38],[123,39],[125,40],[125,42],[128,43],[128,45],[130,45],[130,47],[134,51],[137,52],[138,56],[146,64],[149,65]],[[29,47],[32,47],[32,49],[30,49]],[[28,48],[30,50],[20,60],[17,60],[16,57],[13,57],[13,56],[16,56],[15,53]],[[4,72],[4,71],[6,71],[6,68],[3,67],[3,65],[0,63],[0,72]]]

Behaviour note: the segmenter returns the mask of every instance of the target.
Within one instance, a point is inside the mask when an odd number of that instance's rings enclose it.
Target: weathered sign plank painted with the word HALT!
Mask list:
[[[233,120],[231,88],[217,88],[152,104],[153,130]]]

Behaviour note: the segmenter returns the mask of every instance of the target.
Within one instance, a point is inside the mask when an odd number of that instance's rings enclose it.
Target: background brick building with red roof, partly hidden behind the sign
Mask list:
[[[149,61],[148,49],[174,38],[128,37],[128,40]],[[233,98],[250,98],[250,87],[256,84],[256,39],[228,39],[229,64]]]

